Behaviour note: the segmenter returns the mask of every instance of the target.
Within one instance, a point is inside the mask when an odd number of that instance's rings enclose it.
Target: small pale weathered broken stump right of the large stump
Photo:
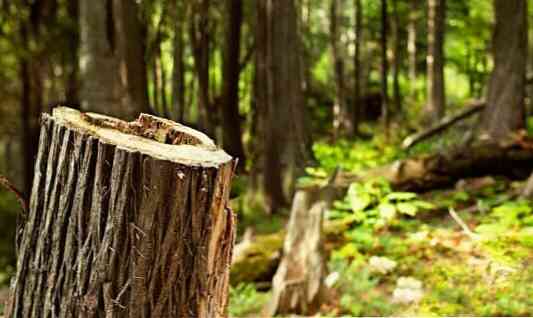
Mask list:
[[[326,274],[322,218],[332,199],[333,192],[329,187],[296,192],[283,258],[272,280],[272,298],[265,307],[267,315],[310,315],[319,309]]]

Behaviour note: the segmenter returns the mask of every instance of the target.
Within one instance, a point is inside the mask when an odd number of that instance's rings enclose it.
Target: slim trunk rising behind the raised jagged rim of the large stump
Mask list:
[[[173,2],[175,3],[175,2]],[[174,66],[172,68],[172,108],[176,113],[176,118],[179,122],[184,121],[185,116],[185,62],[184,50],[185,36],[183,31],[185,20],[185,3],[179,2],[175,7],[175,23],[174,23]]]

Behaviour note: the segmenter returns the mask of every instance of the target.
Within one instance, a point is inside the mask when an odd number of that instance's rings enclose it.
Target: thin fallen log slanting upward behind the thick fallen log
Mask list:
[[[407,150],[414,145],[422,142],[444,130],[453,126],[454,124],[460,122],[461,120],[467,119],[470,116],[481,112],[485,108],[486,103],[484,101],[476,101],[471,105],[465,107],[465,109],[458,114],[452,116],[445,116],[439,123],[430,127],[426,130],[417,132],[413,135],[408,136],[404,139],[402,143],[402,148]]]

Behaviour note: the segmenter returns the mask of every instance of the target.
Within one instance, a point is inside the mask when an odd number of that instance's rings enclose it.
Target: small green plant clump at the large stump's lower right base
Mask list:
[[[229,314],[231,317],[257,316],[268,298],[268,293],[257,291],[253,284],[230,287]]]

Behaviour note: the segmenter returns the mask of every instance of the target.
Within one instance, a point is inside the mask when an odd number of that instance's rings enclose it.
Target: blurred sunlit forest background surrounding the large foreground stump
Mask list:
[[[0,300],[7,188],[30,193],[40,114],[66,105],[239,158],[232,316],[533,315],[531,19],[527,0],[0,0]],[[295,215],[317,200],[313,228]],[[298,265],[321,287],[297,305],[273,281],[295,249],[323,264]]]

